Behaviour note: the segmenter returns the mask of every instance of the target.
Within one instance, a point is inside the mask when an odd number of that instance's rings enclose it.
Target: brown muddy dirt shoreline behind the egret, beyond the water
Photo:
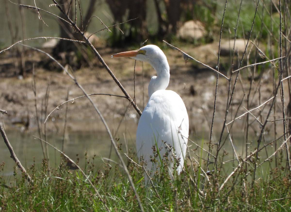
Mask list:
[[[190,51],[189,48],[188,50]],[[137,61],[134,77],[135,61],[133,59],[111,58],[113,53],[119,51],[120,50],[117,49],[104,48],[100,50],[100,54],[132,98],[134,97],[135,92],[136,104],[142,110],[148,100],[147,86],[150,78],[155,75],[155,71],[149,64]],[[185,63],[181,54],[177,51],[167,49],[165,54],[168,58],[171,73],[170,83],[167,89],[177,92],[184,100],[189,114],[190,129],[197,131],[207,129],[208,131],[213,115],[216,73],[212,70],[197,66],[196,63],[191,61]],[[195,54],[199,54],[199,52],[196,52]],[[26,59],[27,61],[30,61],[29,64],[31,64],[31,67],[33,63],[40,64],[42,60],[47,60],[45,55],[35,51],[29,51],[26,55]],[[207,60],[209,60],[209,57]],[[11,62],[12,59],[7,55],[7,53],[0,58],[1,66],[6,64],[8,67],[7,64]],[[101,66],[100,62],[94,58],[92,63],[94,65],[93,69],[83,67],[80,70],[74,71],[77,81],[81,86],[83,86],[87,94],[106,93],[124,96],[107,71]],[[212,63],[215,64],[214,61]],[[13,71],[13,69],[10,69],[9,71]],[[84,93],[82,93],[82,91],[74,84],[72,79],[62,72],[48,71],[41,66],[35,66],[34,73],[38,116],[42,123],[46,117],[45,114],[49,114],[58,105],[66,101],[67,93],[69,94],[68,99],[84,95]],[[17,122],[23,122],[25,124],[25,122],[27,122],[27,117],[29,117],[29,128],[33,129],[36,127],[37,114],[35,108],[35,96],[32,89],[32,75],[31,69],[25,75],[24,79],[18,79],[15,76],[1,76],[0,108],[8,112],[8,115],[1,115],[1,120],[5,123],[6,127],[13,126]],[[247,73],[242,73],[242,75],[247,76]],[[272,92],[272,82],[270,82],[269,78],[266,77],[265,79],[261,79],[260,84],[263,85],[260,87],[260,98],[261,101],[265,101],[269,98],[269,95]],[[236,107],[235,105],[240,104],[248,87],[249,81],[247,80],[247,77],[245,79],[239,78],[232,102],[234,107]],[[47,109],[46,112],[44,112],[46,95],[48,95]],[[228,80],[219,77],[215,113],[216,123],[223,122],[227,95]],[[254,91],[252,96],[253,99],[258,98],[258,93]],[[125,113],[127,119],[133,119],[134,122],[137,123],[139,115],[133,107],[129,106],[129,101],[125,98],[96,95],[92,96],[92,99],[107,121],[114,123],[115,120],[118,120],[118,118],[122,117]],[[258,101],[254,100],[252,106],[255,107],[256,105],[258,105]],[[49,118],[48,126],[51,125],[51,127],[54,128],[52,120],[62,122],[67,117],[68,120],[75,123],[71,124],[71,130],[94,130],[91,129],[90,124],[88,123],[90,123],[90,121],[100,121],[93,106],[86,98],[75,99],[71,103],[68,103],[67,114],[65,113],[65,110],[66,104],[61,106],[59,110],[54,111]],[[231,112],[229,117],[233,116],[234,112],[235,111]],[[245,112],[245,110],[240,107],[239,113],[242,112]],[[84,126],[82,120],[85,120],[88,126]]]

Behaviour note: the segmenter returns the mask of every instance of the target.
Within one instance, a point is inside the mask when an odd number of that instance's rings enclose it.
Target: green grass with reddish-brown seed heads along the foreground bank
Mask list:
[[[130,154],[130,158],[136,160],[134,155]],[[1,176],[0,211],[106,211],[88,180],[96,187],[109,211],[140,211],[134,191],[122,168],[104,163],[103,167],[96,169],[95,158],[86,160],[84,172],[87,178],[79,170],[69,170],[62,160],[58,168],[47,167],[46,160],[43,160],[39,170],[31,165],[29,174],[33,185],[23,176],[19,177],[16,169],[11,183],[3,181]],[[264,177],[255,181],[253,187],[251,178],[246,176],[249,170],[242,168],[219,191],[227,177],[226,174],[221,174],[223,165],[219,169],[220,174],[216,172],[208,175],[209,181],[205,181],[204,174],[200,173],[200,165],[194,164],[194,169],[186,166],[186,172],[174,179],[171,179],[167,170],[160,169],[162,171],[157,171],[152,178],[154,187],[144,185],[143,169],[131,160],[128,161],[127,168],[145,211],[291,209],[291,176],[285,174],[283,167],[264,173]],[[3,168],[1,165],[1,171]],[[197,187],[198,179],[200,183]],[[204,189],[201,190],[203,182]]]

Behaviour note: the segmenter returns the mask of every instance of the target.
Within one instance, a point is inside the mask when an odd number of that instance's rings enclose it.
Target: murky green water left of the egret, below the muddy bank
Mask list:
[[[118,124],[118,121],[115,120],[115,122]],[[134,121],[132,120],[132,122]],[[112,123],[110,124],[110,126],[113,126]],[[83,126],[84,128],[84,126],[88,125],[88,123],[79,123],[79,125]],[[91,123],[91,125],[94,127],[96,123]],[[11,128],[14,128],[14,130],[11,130]],[[74,161],[76,161],[78,155],[78,158],[80,159],[80,167],[84,167],[85,165],[85,152],[88,152],[88,159],[92,158],[94,154],[96,155],[95,164],[97,168],[102,167],[103,158],[109,157],[111,149],[111,140],[109,135],[103,130],[103,126],[96,126],[95,128],[96,131],[68,131],[65,134],[64,152]],[[17,158],[25,167],[25,169],[28,170],[28,168],[31,167],[34,158],[36,160],[36,167],[39,169],[42,163],[42,158],[44,158],[44,156],[40,140],[36,138],[39,137],[38,132],[21,132],[20,128],[13,126],[6,126],[6,129],[8,129],[5,130],[8,140],[13,147]],[[117,126],[114,126],[113,129],[113,131],[116,131]],[[119,143],[123,143],[123,151],[125,152],[125,143],[127,144],[128,148],[135,146],[136,123],[131,124],[131,129],[134,130],[134,133],[127,132],[124,126],[123,128],[120,128],[119,132],[121,133],[116,133],[116,138],[119,138]],[[58,133],[54,130],[48,130],[47,134],[48,137],[46,141],[61,150],[63,145],[63,133]],[[13,175],[13,166],[15,166],[15,162],[12,158],[10,158],[10,152],[3,142],[2,137],[0,138],[0,149],[0,163],[5,163],[5,169],[3,172],[0,172],[0,175],[3,174],[6,179],[9,179]],[[50,146],[48,146],[48,152],[50,166],[58,167],[61,161],[60,153]],[[114,149],[112,149],[111,159],[115,161],[118,159]]]

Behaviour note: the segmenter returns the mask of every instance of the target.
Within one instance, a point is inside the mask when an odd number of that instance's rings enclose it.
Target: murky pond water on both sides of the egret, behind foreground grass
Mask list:
[[[110,149],[111,149],[111,141],[109,139],[108,134],[102,130],[103,126],[95,126],[96,123],[92,121],[91,128],[95,128],[95,131],[86,131],[85,126],[88,126],[88,122],[79,123],[80,126],[84,126],[84,131],[68,131],[65,133],[65,139],[64,139],[64,152],[74,161],[76,161],[77,155],[80,159],[79,165],[80,167],[85,166],[85,157],[84,154],[87,151],[88,159],[92,158],[94,154],[96,155],[95,159],[95,167],[97,169],[102,168],[104,165],[104,161],[107,161],[105,158],[109,158],[110,155]],[[122,152],[127,153],[127,149],[133,148],[135,150],[135,133],[136,133],[136,127],[137,123],[134,120],[127,120],[126,122],[123,122],[121,125],[122,127],[118,129],[119,121],[112,121],[109,123],[109,126],[111,126],[113,138],[118,138],[118,143],[122,143]],[[117,132],[117,133],[115,133]],[[40,140],[36,137],[38,136],[37,131],[32,132],[21,132],[19,128],[6,126],[6,134],[10,141],[10,144],[13,146],[13,150],[15,151],[16,156],[22,163],[22,165],[28,169],[33,164],[33,160],[35,158],[35,163],[37,169],[40,169],[43,153],[42,153],[42,147],[40,144]],[[114,136],[114,134],[116,134]],[[63,133],[59,133],[54,130],[48,130],[47,133],[47,141],[56,146],[58,149],[62,149],[63,145]],[[214,143],[217,142],[218,132],[214,133],[213,141]],[[235,147],[236,153],[238,156],[242,156],[244,158],[245,156],[245,142],[243,139],[242,132],[235,133],[236,136],[233,137],[233,145]],[[207,153],[202,151],[198,147],[202,147],[205,150],[208,150],[208,144],[209,141],[209,132],[200,130],[196,131],[195,135],[191,135],[189,138],[191,141],[188,142],[189,146],[189,153],[191,157],[196,158],[196,160],[199,160],[198,157],[202,155],[203,159],[207,159]],[[267,136],[266,136],[267,138]],[[250,147],[250,150],[253,151],[254,146],[256,145],[256,139],[257,137],[254,136],[253,144],[251,144],[253,147]],[[268,138],[267,138],[268,139]],[[0,172],[0,175],[3,175],[4,178],[7,181],[13,181],[13,166],[15,165],[15,162],[12,158],[10,158],[10,152],[8,151],[8,148],[3,142],[3,139],[0,139],[0,163],[5,163],[4,171]],[[117,141],[116,141],[117,142]],[[266,140],[266,143],[269,141]],[[197,149],[198,147],[198,149]],[[230,144],[229,140],[226,140],[225,145],[223,146],[223,149],[229,153],[227,156],[223,158],[223,161],[229,161],[234,158],[232,145]],[[250,151],[249,150],[249,151]],[[116,156],[116,153],[114,149],[111,150],[111,156],[110,158],[114,161],[118,161],[118,158]],[[49,152],[49,162],[51,167],[58,167],[61,157],[60,153],[55,151],[52,147],[48,147]],[[212,153],[215,154],[216,147],[214,145]],[[274,146],[272,147],[269,145],[267,148],[267,151],[261,151],[260,156],[262,157],[261,160],[265,159],[267,155],[270,155],[274,152]],[[123,154],[124,156],[124,154]],[[124,156],[124,159],[125,156]],[[213,156],[210,157],[210,161],[213,160]],[[232,169],[233,162],[227,162],[225,165],[226,169],[229,171]],[[211,169],[211,168],[210,168]],[[226,170],[226,172],[228,172]],[[20,172],[19,172],[20,174]],[[20,175],[19,175],[20,176]]]

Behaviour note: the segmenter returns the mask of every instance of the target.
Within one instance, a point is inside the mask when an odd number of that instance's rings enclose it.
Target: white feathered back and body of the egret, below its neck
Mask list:
[[[184,165],[188,131],[188,115],[181,97],[174,91],[158,90],[151,95],[139,120],[136,132],[137,155],[139,158],[143,156],[148,164],[147,169],[155,170],[150,162],[150,156],[153,156],[152,147],[156,146],[163,158],[166,142],[174,147],[176,157],[180,158],[177,168],[180,174]],[[159,156],[156,159],[159,160]]]

